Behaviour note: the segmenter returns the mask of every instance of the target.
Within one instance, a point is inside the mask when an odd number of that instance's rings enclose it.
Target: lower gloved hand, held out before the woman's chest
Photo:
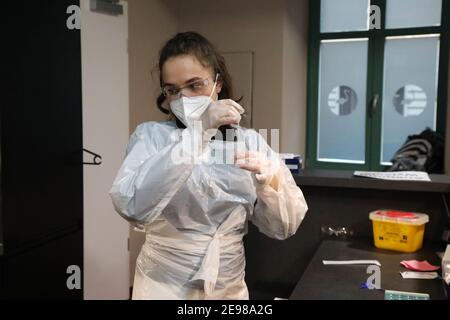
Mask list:
[[[268,159],[261,152],[245,152],[238,153],[235,156],[235,162],[241,169],[254,173],[260,185],[271,185],[273,189],[278,190],[276,174],[280,163],[277,159]]]

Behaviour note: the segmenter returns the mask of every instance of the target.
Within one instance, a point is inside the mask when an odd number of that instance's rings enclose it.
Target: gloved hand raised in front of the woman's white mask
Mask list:
[[[215,130],[223,125],[239,124],[244,108],[237,102],[226,99],[212,102],[202,114],[203,130]],[[214,133],[215,134],[215,133]]]

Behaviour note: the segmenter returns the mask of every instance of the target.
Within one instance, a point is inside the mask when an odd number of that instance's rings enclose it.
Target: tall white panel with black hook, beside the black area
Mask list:
[[[82,0],[83,145],[103,157],[84,167],[84,298],[129,298],[128,223],[108,192],[129,137],[128,17],[89,11]]]

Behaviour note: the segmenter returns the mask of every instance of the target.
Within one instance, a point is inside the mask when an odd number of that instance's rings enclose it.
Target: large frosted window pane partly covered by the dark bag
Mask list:
[[[408,135],[436,129],[439,36],[386,39],[381,159],[389,164]]]

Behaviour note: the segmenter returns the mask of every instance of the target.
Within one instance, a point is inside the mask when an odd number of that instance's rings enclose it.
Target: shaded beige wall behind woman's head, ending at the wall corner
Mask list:
[[[222,52],[254,53],[253,126],[280,128],[283,0],[192,0],[178,6],[180,31],[198,31]]]

